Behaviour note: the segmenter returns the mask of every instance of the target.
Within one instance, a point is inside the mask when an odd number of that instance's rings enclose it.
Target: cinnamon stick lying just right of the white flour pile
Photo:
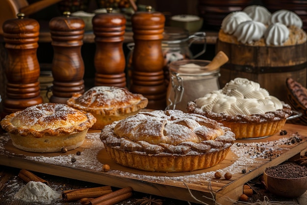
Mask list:
[[[65,202],[77,201],[82,198],[97,198],[112,192],[111,186],[101,186],[94,188],[72,189],[62,192]]]

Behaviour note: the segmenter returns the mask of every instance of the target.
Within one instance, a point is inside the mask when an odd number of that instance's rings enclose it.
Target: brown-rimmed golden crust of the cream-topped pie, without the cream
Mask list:
[[[283,109],[265,114],[245,115],[226,115],[203,111],[198,108],[195,102],[188,102],[187,112],[203,115],[214,119],[224,126],[229,127],[235,133],[236,139],[261,138],[274,135],[279,132],[285,124],[287,117],[292,115],[291,107],[283,104]]]

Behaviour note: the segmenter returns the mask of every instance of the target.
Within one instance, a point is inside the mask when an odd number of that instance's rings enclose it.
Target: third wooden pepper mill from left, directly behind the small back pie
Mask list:
[[[94,58],[95,86],[126,87],[126,59],[123,50],[126,18],[123,14],[97,14],[93,17],[96,53]]]

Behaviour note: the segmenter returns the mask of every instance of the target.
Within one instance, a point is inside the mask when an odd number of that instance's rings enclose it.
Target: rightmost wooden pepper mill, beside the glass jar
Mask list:
[[[166,85],[164,83],[163,39],[165,16],[160,12],[136,12],[131,17],[134,49],[130,91],[148,98],[150,109],[164,110],[166,107]]]

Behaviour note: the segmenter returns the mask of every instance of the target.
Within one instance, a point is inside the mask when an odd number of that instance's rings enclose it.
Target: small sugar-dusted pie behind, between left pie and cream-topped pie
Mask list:
[[[97,86],[84,94],[73,94],[67,104],[93,114],[97,121],[92,129],[102,129],[113,121],[135,115],[146,108],[148,99],[141,94],[131,93],[127,88]]]

